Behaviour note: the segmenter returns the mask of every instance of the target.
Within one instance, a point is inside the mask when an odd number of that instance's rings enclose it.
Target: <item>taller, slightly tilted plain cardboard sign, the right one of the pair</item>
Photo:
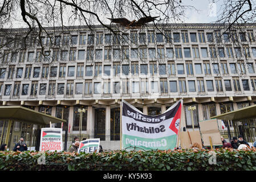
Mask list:
[[[213,146],[222,146],[221,134],[218,129],[217,119],[200,121],[199,126],[204,146],[210,146],[209,137],[212,137]]]

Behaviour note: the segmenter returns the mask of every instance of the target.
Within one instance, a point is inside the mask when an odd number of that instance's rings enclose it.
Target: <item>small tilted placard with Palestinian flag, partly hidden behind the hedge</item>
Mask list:
[[[87,139],[80,142],[78,153],[80,152],[99,152],[100,148],[100,139],[94,138],[94,139]]]

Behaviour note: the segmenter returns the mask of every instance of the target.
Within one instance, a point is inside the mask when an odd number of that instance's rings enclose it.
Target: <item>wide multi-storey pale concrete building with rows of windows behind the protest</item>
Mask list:
[[[49,49],[45,36],[45,56],[33,41],[15,56],[3,47],[0,104],[66,119],[64,130],[112,142],[120,139],[121,99],[157,115],[182,98],[181,129],[191,130],[193,120],[198,130],[198,121],[256,103],[255,24],[224,34],[218,28],[170,24],[161,32],[148,26],[117,36],[101,26],[93,34],[69,27],[55,36],[59,47]],[[1,44],[7,40],[0,37]],[[189,106],[196,106],[193,119]],[[254,120],[225,124],[235,135],[243,130],[247,140],[256,139]]]

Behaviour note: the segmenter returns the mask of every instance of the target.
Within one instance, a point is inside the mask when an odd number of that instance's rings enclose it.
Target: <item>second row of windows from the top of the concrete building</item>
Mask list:
[[[225,50],[226,49],[226,50]],[[201,50],[201,52],[200,52]],[[104,52],[103,52],[104,51]],[[104,53],[104,55],[103,55]],[[193,53],[193,55],[192,55]],[[251,53],[253,57],[256,57],[256,47],[248,47],[242,46],[242,50],[240,47],[231,47],[226,46],[218,47],[209,46],[208,47],[198,47],[192,46],[192,50],[190,47],[174,46],[173,48],[164,48],[163,46],[158,46],[157,48],[131,48],[122,47],[122,49],[112,49],[111,47],[105,47],[105,49],[94,49],[92,47],[88,47],[87,49],[78,49],[71,48],[70,51],[64,50],[59,51],[59,49],[54,49],[54,51],[44,51],[44,55],[42,55],[41,50],[37,50],[36,53],[34,51],[26,52],[21,51],[17,52],[9,52],[8,50],[3,52],[2,63],[16,63],[17,59],[19,63],[26,62],[41,62],[46,61],[51,63],[52,61],[76,61],[76,60],[137,60],[137,59],[173,59],[176,56],[176,59],[184,58],[208,58],[209,55],[212,58],[234,58],[234,57],[246,57],[250,58]],[[77,56],[76,56],[77,55]],[[27,56],[27,57],[26,57]],[[60,59],[59,59],[60,57]]]

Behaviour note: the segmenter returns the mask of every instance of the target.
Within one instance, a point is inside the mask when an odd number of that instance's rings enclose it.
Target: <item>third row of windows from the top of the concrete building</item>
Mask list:
[[[113,65],[102,65],[101,63],[95,63],[95,65],[86,65],[85,66],[85,76],[128,76],[132,75],[212,75],[220,74],[223,75],[231,74],[246,74],[246,73],[255,73],[254,63],[243,63],[243,61],[237,61],[237,63],[227,63],[227,61],[221,61],[220,64],[212,63],[209,61],[203,61],[201,63],[193,63],[192,61],[185,61],[181,64],[174,64],[174,61],[169,61],[167,66],[166,64],[157,64],[156,62],[151,62],[148,64],[139,64],[139,62],[132,62],[130,64],[120,65],[119,63]],[[185,67],[184,67],[185,65]],[[23,70],[25,69],[25,73]],[[221,69],[221,72],[220,72]],[[177,72],[176,72],[177,70]],[[75,72],[76,71],[76,72]],[[185,72],[186,71],[186,72]],[[6,74],[7,72],[7,74]],[[26,65],[26,68],[18,67],[15,68],[15,65],[10,65],[7,71],[7,68],[0,68],[0,79],[4,79],[7,75],[7,79],[13,78],[66,78],[67,77],[84,77],[84,64],[78,63],[75,65],[67,66],[66,64],[60,64],[59,66],[49,66],[44,64],[42,67],[33,67],[32,65]],[[75,75],[76,74],[76,75]]]

